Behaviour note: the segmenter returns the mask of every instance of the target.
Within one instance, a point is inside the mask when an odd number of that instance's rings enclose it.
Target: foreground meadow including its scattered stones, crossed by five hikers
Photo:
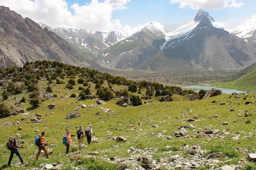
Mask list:
[[[47,81],[42,81],[38,87],[45,89]],[[7,151],[5,143],[10,136],[20,133],[19,141],[25,140],[23,144],[25,149],[20,149],[21,155],[29,163],[20,165],[15,169],[31,169],[38,167],[42,163],[64,164],[63,169],[116,169],[117,166],[127,165],[130,169],[143,169],[141,166],[142,157],[149,159],[147,166],[162,167],[163,169],[174,169],[178,167],[196,168],[196,169],[215,169],[223,165],[236,165],[233,167],[246,168],[254,167],[245,160],[249,152],[256,152],[255,147],[255,115],[256,115],[256,97],[255,93],[250,93],[247,100],[243,100],[244,94],[239,94],[240,98],[234,95],[221,94],[209,99],[189,101],[184,96],[174,96],[173,102],[158,102],[153,98],[153,103],[143,104],[137,107],[121,107],[116,105],[117,99],[107,101],[105,105],[90,107],[96,104],[94,100],[78,100],[70,98],[71,93],[78,93],[76,88],[65,90],[65,85],[52,86],[53,92],[58,98],[52,98],[42,102],[40,107],[31,109],[28,102],[20,105],[29,112],[28,115],[19,115],[0,119],[0,166],[4,167],[9,159],[10,151]],[[113,86],[113,89],[120,89],[122,86]],[[93,85],[92,85],[92,89]],[[95,90],[95,89],[94,89]],[[94,91],[91,91],[94,93]],[[145,93],[142,90],[142,93]],[[14,106],[23,95],[28,93],[14,95],[9,98],[8,106]],[[61,97],[60,97],[61,96]],[[231,97],[230,97],[231,96]],[[184,101],[179,101],[183,99]],[[212,103],[216,100],[215,103]],[[143,100],[148,101],[148,100]],[[245,101],[252,102],[249,105]],[[225,104],[223,104],[224,102]],[[48,105],[55,104],[56,107],[48,109]],[[65,119],[68,112],[74,111],[74,108],[81,104],[87,105],[78,112],[81,118]],[[222,104],[220,104],[222,103]],[[103,108],[110,108],[111,112],[102,113]],[[234,109],[234,111],[230,111]],[[95,115],[100,112],[100,115]],[[42,115],[42,123],[31,123],[30,118],[35,114]],[[45,115],[48,114],[49,117]],[[247,116],[245,117],[245,114]],[[248,116],[249,115],[249,116]],[[26,117],[23,121],[21,118]],[[6,125],[5,122],[21,122],[20,125]],[[191,121],[191,122],[190,122]],[[141,122],[141,123],[139,123]],[[227,123],[223,123],[227,122]],[[92,125],[94,137],[97,137],[97,143],[93,143],[82,150],[78,150],[76,130],[80,125],[86,128]],[[190,124],[195,129],[189,127]],[[157,126],[156,126],[157,125]],[[156,126],[156,127],[154,127]],[[184,136],[172,136],[175,131],[180,132],[180,127],[184,127],[188,132]],[[18,130],[22,127],[22,130]],[[204,129],[217,129],[216,134],[202,135]],[[34,136],[40,135],[35,130],[46,131],[45,140],[53,153],[50,159],[39,157],[35,158],[34,152],[37,147],[34,144]],[[65,146],[62,144],[62,136],[66,130],[70,130],[74,142],[68,155],[64,155]],[[175,131],[174,131],[175,130]],[[200,132],[200,133],[199,133]],[[177,132],[175,132],[177,133]],[[124,136],[126,142],[116,142],[113,138]],[[21,144],[20,144],[21,145]],[[211,153],[222,152],[220,157],[207,159]],[[70,161],[73,154],[81,154],[86,157],[80,160]],[[88,155],[94,154],[94,156]],[[175,155],[175,156],[174,156]],[[173,157],[174,156],[174,157]],[[88,158],[94,157],[94,158]],[[111,158],[115,157],[115,158]],[[111,160],[109,159],[111,158]],[[145,158],[144,158],[145,159]],[[17,156],[14,156],[12,164],[19,162]],[[13,169],[13,167],[7,168]]]

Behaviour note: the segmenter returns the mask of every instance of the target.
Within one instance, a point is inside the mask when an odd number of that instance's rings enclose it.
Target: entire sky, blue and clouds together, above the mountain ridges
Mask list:
[[[49,26],[117,31],[148,21],[180,24],[199,8],[218,22],[249,19],[256,0],[0,0],[23,18]]]

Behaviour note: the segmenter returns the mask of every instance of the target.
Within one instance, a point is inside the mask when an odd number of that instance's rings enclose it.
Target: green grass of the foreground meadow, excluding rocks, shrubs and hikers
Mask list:
[[[77,79],[76,79],[77,80]],[[65,81],[68,81],[66,79]],[[92,84],[92,83],[90,83]],[[105,85],[106,82],[105,82]],[[67,90],[65,85],[51,85],[53,88],[53,94],[57,94],[58,97],[64,96],[67,97],[72,93],[75,93],[77,96],[79,91],[77,90],[79,84],[75,85],[75,89]],[[47,87],[47,81],[41,81],[38,84],[40,91],[43,91]],[[120,90],[122,87],[128,88],[127,86],[118,86],[113,85],[113,89]],[[94,89],[94,84],[91,85],[91,92],[96,93]],[[2,91],[2,90],[1,90]],[[145,94],[145,90],[141,91],[142,94]],[[138,95],[138,93],[135,93]],[[247,99],[249,101],[255,101],[253,98],[255,94],[249,94]],[[15,103],[18,102],[23,96],[28,96],[28,93],[22,93],[18,95],[11,96],[11,100],[4,101],[9,107],[15,107]],[[117,158],[126,158],[130,157],[132,153],[127,152],[130,147],[135,147],[135,149],[142,149],[155,147],[156,152],[151,153],[154,159],[169,157],[174,154],[180,154],[182,156],[188,157],[185,150],[181,150],[184,144],[194,145],[200,144],[201,149],[206,149],[207,153],[212,152],[223,152],[226,157],[221,159],[228,159],[231,162],[236,163],[238,159],[245,159],[247,153],[235,151],[236,147],[247,149],[251,152],[255,152],[255,135],[256,132],[253,130],[255,128],[255,112],[256,109],[255,103],[251,105],[245,105],[244,101],[240,99],[235,99],[232,96],[231,99],[228,99],[230,95],[222,94],[219,96],[212,97],[205,100],[196,100],[189,101],[186,100],[184,96],[174,95],[173,102],[158,102],[158,98],[152,96],[153,103],[144,104],[138,107],[121,107],[116,105],[118,99],[112,99],[107,101],[105,105],[99,105],[95,108],[82,108],[79,111],[76,111],[82,115],[81,118],[66,120],[65,117],[68,112],[73,111],[80,103],[90,106],[95,104],[94,100],[78,100],[78,98],[52,98],[52,100],[46,100],[42,102],[40,107],[31,109],[31,106],[28,102],[22,104],[20,107],[25,107],[27,111],[30,112],[29,115],[26,115],[27,119],[20,121],[23,116],[22,114],[12,116],[10,118],[0,119],[0,130],[1,137],[0,143],[2,144],[0,148],[1,162],[0,166],[7,164],[9,159],[9,151],[7,151],[4,146],[8,142],[10,136],[15,136],[16,133],[20,133],[22,136],[19,141],[25,140],[26,143],[25,151],[28,155],[28,159],[31,160],[35,158],[33,153],[37,150],[37,147],[34,144],[34,136],[40,135],[39,132],[35,132],[36,129],[39,131],[46,131],[45,140],[48,140],[50,144],[57,144],[57,147],[49,147],[53,150],[52,157],[49,160],[39,157],[38,161],[29,161],[28,166],[20,167],[20,169],[28,169],[38,167],[41,163],[53,163],[53,162],[63,162],[65,168],[70,166],[80,166],[81,168],[87,169],[101,169],[105,167],[107,169],[115,169],[117,164],[110,164],[107,161],[109,157]],[[16,100],[14,100],[16,97]],[[42,97],[42,96],[41,96]],[[180,101],[180,100],[184,101]],[[218,101],[217,103],[211,103],[212,100]],[[230,100],[233,100],[230,103]],[[148,101],[148,100],[142,100]],[[225,102],[227,105],[220,105],[220,101]],[[56,104],[56,108],[49,110],[47,106],[51,103]],[[72,104],[73,103],[73,104]],[[238,103],[242,103],[238,105]],[[232,107],[233,106],[233,107]],[[102,108],[110,108],[111,111],[114,111],[110,115],[107,113],[101,113]],[[230,112],[230,108],[235,108],[235,111]],[[252,116],[244,117],[245,110],[247,110]],[[95,113],[100,112],[101,115],[95,115]],[[43,116],[43,123],[31,123],[30,118],[35,117],[35,114],[41,114]],[[50,117],[45,117],[45,114],[50,115]],[[188,114],[189,117],[197,117],[200,119],[198,122],[184,122],[181,114]],[[242,117],[238,117],[242,113]],[[213,115],[221,115],[213,120],[211,119]],[[232,122],[232,119],[235,119],[236,122]],[[10,121],[11,123],[19,120],[22,122],[21,125],[16,126],[2,126],[4,122]],[[153,122],[148,122],[148,120],[153,120]],[[165,121],[165,122],[164,122]],[[246,121],[251,121],[251,123],[244,123]],[[138,122],[142,122],[142,126],[138,126]],[[228,126],[223,126],[222,122],[229,122]],[[76,134],[76,130],[80,125],[86,128],[89,124],[92,125],[95,137],[99,138],[97,144],[91,144],[86,149],[80,150],[82,155],[87,155],[89,152],[97,151],[99,155],[96,155],[97,160],[94,159],[81,159],[80,161],[70,162],[70,153],[68,156],[64,156],[65,146],[62,144],[61,138],[66,130],[70,130],[71,134]],[[130,125],[132,124],[132,125]],[[152,124],[157,124],[159,128],[153,128]],[[173,137],[172,140],[166,140],[165,138],[152,137],[151,133],[162,133],[162,130],[167,130],[168,136],[172,136],[173,130],[178,130],[180,126],[186,126],[188,124],[193,124],[197,129],[196,131],[188,130],[189,135],[196,136],[197,131],[204,129],[204,127],[210,127],[212,129],[220,129],[221,131],[228,131],[231,133],[230,136],[226,138],[176,138]],[[128,126],[129,125],[129,126]],[[18,127],[23,127],[22,130],[18,130]],[[48,127],[48,129],[44,129]],[[116,130],[118,129],[118,130]],[[239,133],[241,136],[238,141],[230,140],[232,135]],[[249,132],[252,134],[250,135]],[[110,135],[111,133],[112,135]],[[117,143],[113,140],[106,140],[108,136],[119,136],[122,135],[126,137],[126,143]],[[221,134],[220,134],[221,135]],[[251,139],[244,138],[245,136],[250,135]],[[74,138],[74,137],[72,137]],[[239,142],[239,143],[238,143]],[[115,146],[117,147],[115,147]],[[166,148],[167,145],[170,145],[170,148]],[[70,151],[77,150],[77,141],[72,142]],[[165,154],[164,151],[172,151],[171,154]],[[21,155],[24,160],[26,159],[24,149],[20,149]],[[14,156],[12,164],[15,161],[19,161],[17,156]],[[250,164],[251,165],[251,164]],[[251,165],[252,166],[252,165]],[[251,167],[250,166],[250,167]],[[250,168],[249,166],[247,167]],[[204,168],[207,169],[206,166]],[[12,169],[7,168],[7,169]],[[197,168],[198,169],[198,168]]]

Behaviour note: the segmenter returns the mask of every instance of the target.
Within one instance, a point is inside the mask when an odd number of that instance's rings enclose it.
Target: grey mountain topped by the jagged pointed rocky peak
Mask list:
[[[170,38],[163,51],[149,57],[139,70],[239,70],[256,62],[256,50],[243,39],[212,26],[213,18],[201,9],[198,25]]]

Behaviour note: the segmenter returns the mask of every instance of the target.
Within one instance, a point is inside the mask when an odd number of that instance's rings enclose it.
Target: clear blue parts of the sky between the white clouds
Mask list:
[[[74,3],[84,5],[90,4],[91,0],[68,0],[67,2],[69,6]],[[99,2],[103,2],[103,0],[99,0]],[[237,8],[204,9],[204,11],[207,11],[218,22],[249,19],[255,14],[256,0],[237,0],[236,2],[243,2],[244,4]],[[171,4],[169,0],[131,0],[125,6],[126,9],[124,10],[113,11],[112,18],[119,19],[123,26],[129,25],[131,27],[145,24],[148,21],[180,24],[193,18],[198,11],[198,9],[189,7],[179,8],[179,3]]]

